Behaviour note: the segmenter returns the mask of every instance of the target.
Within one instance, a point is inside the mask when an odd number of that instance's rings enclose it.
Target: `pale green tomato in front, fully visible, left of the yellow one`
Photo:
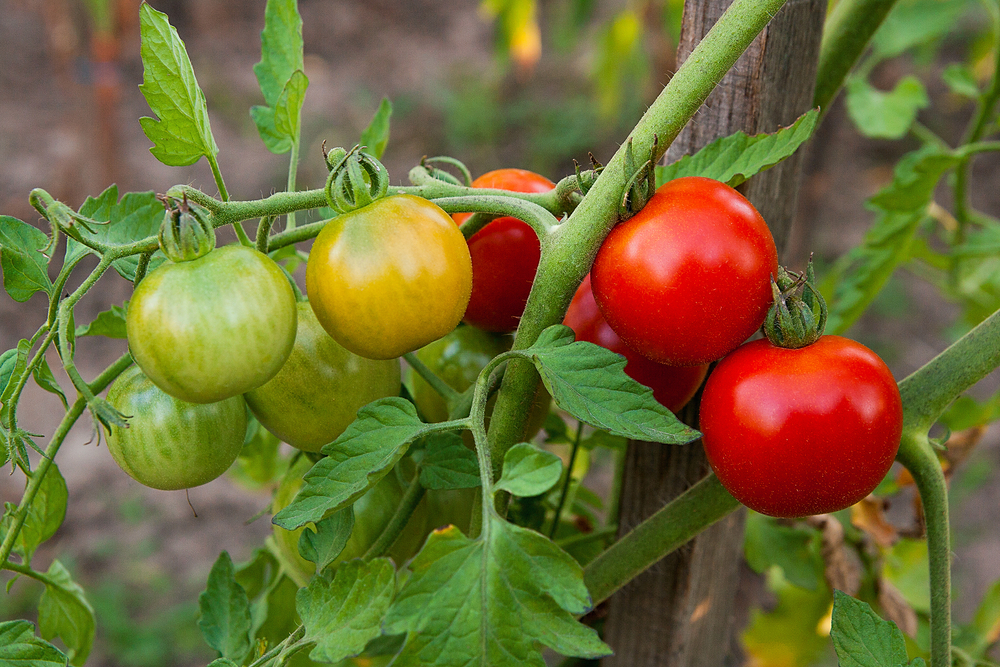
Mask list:
[[[192,403],[255,389],[295,342],[295,294],[281,269],[230,245],[146,276],[129,302],[126,333],[156,386]]]

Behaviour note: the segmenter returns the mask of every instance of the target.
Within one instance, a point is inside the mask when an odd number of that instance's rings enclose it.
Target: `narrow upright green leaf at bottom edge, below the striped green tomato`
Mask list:
[[[208,586],[198,596],[198,627],[209,646],[242,664],[250,653],[250,600],[236,583],[233,561],[223,551],[208,575]]]

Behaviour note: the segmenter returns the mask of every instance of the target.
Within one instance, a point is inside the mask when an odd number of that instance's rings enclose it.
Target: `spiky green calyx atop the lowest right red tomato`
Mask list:
[[[812,259],[805,273],[778,267],[771,277],[774,304],[764,319],[764,335],[772,345],[797,349],[812,345],[826,328],[826,300],[816,288]]]

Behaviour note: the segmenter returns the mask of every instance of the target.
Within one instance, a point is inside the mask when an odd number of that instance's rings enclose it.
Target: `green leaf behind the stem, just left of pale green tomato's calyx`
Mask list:
[[[143,5],[148,7],[149,5]],[[146,238],[155,238],[160,230],[160,223],[163,222],[163,204],[156,198],[156,193],[149,192],[127,192],[118,201],[118,186],[112,185],[102,192],[98,197],[88,197],[80,207],[80,215],[84,215],[98,222],[108,222],[107,225],[94,227],[94,233],[90,234],[85,229],[80,229],[82,236],[89,237],[95,241],[106,244],[128,244],[141,241]],[[66,244],[66,255],[84,255],[93,252],[87,246],[69,239]],[[94,253],[97,254],[97,253]],[[69,263],[67,259],[67,264]],[[149,260],[147,271],[152,271],[166,261],[163,253],[157,250]],[[129,255],[116,259],[111,266],[118,274],[128,281],[135,280],[136,267],[139,265],[138,255]]]

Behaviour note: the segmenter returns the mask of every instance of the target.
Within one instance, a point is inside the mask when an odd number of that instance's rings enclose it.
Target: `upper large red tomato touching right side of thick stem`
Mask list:
[[[764,322],[778,253],[743,195],[678,178],[621,223],[591,269],[594,296],[625,344],[671,366],[722,358]]]

